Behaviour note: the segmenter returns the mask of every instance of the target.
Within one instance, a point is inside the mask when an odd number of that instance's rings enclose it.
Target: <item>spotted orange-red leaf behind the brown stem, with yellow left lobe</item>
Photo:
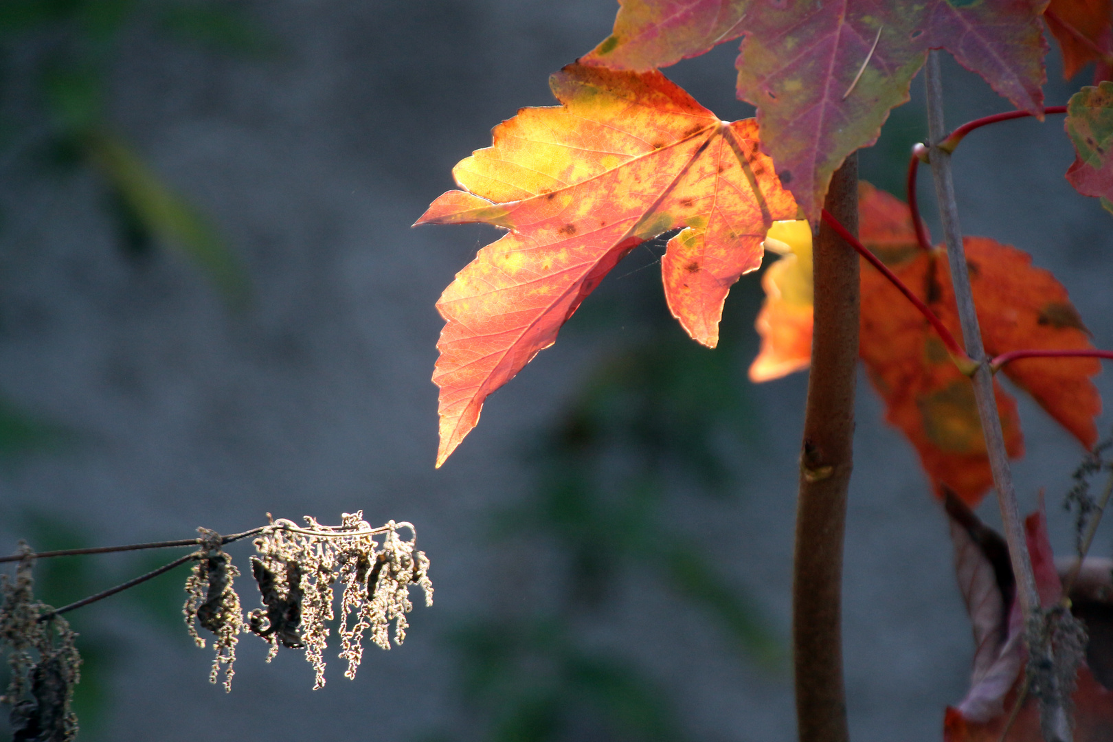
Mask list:
[[[863,244],[957,335],[946,254],[918,247],[908,207],[861,184],[859,234]],[[1066,289],[1050,273],[1033,267],[1026,254],[982,237],[966,238],[965,249],[987,353],[1092,347]],[[794,253],[805,251],[810,261],[810,240],[798,237]],[[755,380],[807,366],[811,325],[799,317],[800,307],[789,314],[780,306],[784,295],[810,291],[810,276],[786,270],[776,280],[777,293],[767,298],[759,316],[762,350],[750,369]],[[936,488],[949,488],[977,503],[993,475],[969,379],[924,316],[868,265],[861,266],[859,355],[885,400],[886,419],[916,448]],[[1014,362],[1003,373],[1090,447],[1097,438],[1094,417],[1101,412],[1101,397],[1090,377],[1100,368],[1094,358],[1043,358]],[[1018,457],[1024,445],[1016,402],[994,386],[1006,449]]]

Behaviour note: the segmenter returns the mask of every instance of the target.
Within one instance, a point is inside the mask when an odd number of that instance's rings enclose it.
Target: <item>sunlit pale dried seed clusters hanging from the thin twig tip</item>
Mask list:
[[[405,614],[413,609],[411,585],[422,588],[425,605],[433,604],[429,558],[414,548],[416,533],[411,524],[391,521],[373,528],[362,511],[345,513],[338,526],[325,526],[308,516],[305,521],[305,527],[275,521],[255,540],[258,555],[252,557],[252,575],[263,607],[249,611],[246,622],[233,588],[239,573],[220,550],[220,537],[201,532],[206,547],[186,581],[184,613],[199,646],[205,642],[197,625],[217,636],[211,682],[220,665],[227,665],[224,684],[230,687],[237,635],[250,632],[270,644],[268,662],[279,646],[304,649],[316,674],[314,690],[322,687],[337,583],[343,585],[339,635],[347,677],[354,677],[359,666],[363,635],[368,630],[371,640],[384,650],[391,647],[392,622],[395,643],[405,640]],[[400,530],[408,531],[410,538],[402,538]]]

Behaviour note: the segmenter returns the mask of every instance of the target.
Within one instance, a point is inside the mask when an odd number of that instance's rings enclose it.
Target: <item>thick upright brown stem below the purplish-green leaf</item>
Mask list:
[[[854,462],[858,363],[858,161],[850,155],[827,191],[814,254],[815,334],[800,453],[792,558],[792,662],[800,742],[847,742],[841,580],[847,488]],[[839,224],[841,229],[836,229]],[[848,227],[843,227],[848,225]]]

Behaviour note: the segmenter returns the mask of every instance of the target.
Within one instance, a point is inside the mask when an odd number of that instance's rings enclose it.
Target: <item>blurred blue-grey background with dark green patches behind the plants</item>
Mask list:
[[[333,655],[316,692],[296,652],[267,665],[253,636],[233,692],[210,685],[210,652],[189,644],[177,613],[181,571],[75,613],[88,661],[80,739],[794,738],[806,375],[746,380],[757,275],[735,288],[710,352],[667,316],[662,245],[639,248],[433,468],[433,304],[494,231],[410,225],[492,126],[552,103],[548,75],[605,38],[614,11],[611,0],[0,8],[0,548],[233,533],[267,512],[335,523],[362,508],[416,525],[436,587],[403,646],[370,647],[355,681]],[[666,72],[741,118],[752,109],[733,97],[736,52]],[[1050,105],[1089,75],[1064,83],[1056,55]],[[945,69],[952,127],[1008,108]],[[922,87],[863,155],[863,177],[902,197],[926,128]],[[142,184],[97,165],[90,131],[126,142],[219,237],[165,244],[174,224],[145,216]],[[972,135],[956,156],[963,226],[1028,250],[1067,286],[1095,345],[1113,347],[1113,217],[1063,179],[1072,158],[1062,117]],[[920,187],[939,235],[926,175]],[[1107,374],[1099,385],[1107,395]],[[851,731],[938,740],[944,706],[965,693],[969,626],[942,511],[864,378],[859,388]],[[1022,416],[1023,506],[1046,488],[1065,553],[1060,502],[1082,452],[1023,398]],[[995,508],[979,513],[995,523]],[[1109,531],[1094,552],[1111,552]],[[245,568],[248,547],[232,553]],[[59,561],[40,586],[60,603],[171,557]],[[254,606],[250,580],[238,584]]]

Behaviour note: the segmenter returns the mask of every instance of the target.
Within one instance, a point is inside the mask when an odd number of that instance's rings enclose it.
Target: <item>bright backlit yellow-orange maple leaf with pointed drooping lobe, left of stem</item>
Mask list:
[[[475,427],[487,395],[552,345],[643,240],[684,227],[661,263],[664,294],[683,328],[713,347],[731,284],[760,265],[769,226],[798,211],[752,119],[721,121],[656,71],[570,65],[550,86],[562,106],[522,109],[495,127],[494,146],[453,170],[463,190],[417,220],[508,230],[436,305],[446,321],[433,375],[437,466]]]

